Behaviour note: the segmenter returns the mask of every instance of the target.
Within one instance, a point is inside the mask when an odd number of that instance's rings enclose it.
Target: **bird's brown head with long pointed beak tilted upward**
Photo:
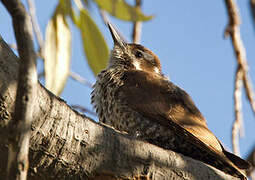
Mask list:
[[[152,51],[139,44],[126,43],[113,25],[108,23],[108,27],[114,41],[109,67],[161,74],[159,58]]]

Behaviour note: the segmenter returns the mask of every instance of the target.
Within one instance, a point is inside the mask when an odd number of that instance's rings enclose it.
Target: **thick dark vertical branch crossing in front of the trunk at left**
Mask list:
[[[23,4],[19,0],[2,0],[12,16],[12,24],[20,56],[19,81],[16,93],[14,117],[9,124],[9,156],[7,174],[9,179],[27,177],[29,167],[29,139],[31,131],[33,100],[37,87],[36,55],[33,47],[32,25]]]

